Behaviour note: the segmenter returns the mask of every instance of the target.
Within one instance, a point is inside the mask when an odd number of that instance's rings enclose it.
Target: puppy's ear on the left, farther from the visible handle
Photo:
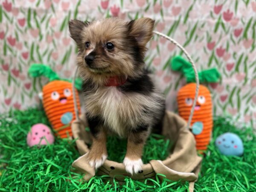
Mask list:
[[[88,22],[84,23],[81,20],[70,20],[68,22],[70,37],[76,41],[77,45],[81,44],[81,40],[82,40],[81,33],[84,30],[84,28],[88,26],[88,24],[89,24]]]

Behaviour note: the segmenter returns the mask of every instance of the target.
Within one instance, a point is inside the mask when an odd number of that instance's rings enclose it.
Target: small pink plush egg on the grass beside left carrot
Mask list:
[[[38,145],[39,143],[40,145],[47,145],[48,143],[52,144],[53,142],[54,137],[50,128],[42,123],[33,125],[27,135],[27,144],[30,147],[33,145]]]

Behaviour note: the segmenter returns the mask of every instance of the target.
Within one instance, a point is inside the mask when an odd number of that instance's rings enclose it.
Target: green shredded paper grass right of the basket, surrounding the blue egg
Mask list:
[[[197,191],[256,191],[256,135],[253,128],[236,128],[231,118],[214,119],[213,140],[202,163],[201,174],[195,183]],[[244,143],[242,157],[221,155],[215,148],[215,139],[225,133],[238,134]]]

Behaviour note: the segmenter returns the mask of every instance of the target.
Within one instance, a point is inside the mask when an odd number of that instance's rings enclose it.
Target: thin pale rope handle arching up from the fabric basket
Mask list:
[[[196,83],[196,87],[195,87],[195,98],[198,98],[198,90],[199,90],[199,78],[198,78],[198,71],[196,70],[195,64],[192,61],[192,58],[190,57],[190,55],[188,54],[188,52],[186,51],[186,49],[184,49],[184,47],[182,47],[177,41],[175,41],[174,39],[168,37],[167,35],[164,35],[163,33],[157,32],[157,31],[153,31],[154,34],[159,35],[163,38],[166,38],[167,40],[171,41],[173,44],[175,44],[180,50],[182,50],[184,52],[184,54],[186,55],[187,59],[189,60],[189,62],[192,64],[192,68],[195,72],[195,83]],[[76,70],[74,73],[74,77],[73,77],[73,81],[72,81],[72,91],[73,91],[73,99],[74,99],[74,108],[75,108],[75,114],[76,114],[76,119],[79,119],[79,110],[77,107],[77,102],[76,102],[76,97],[75,97],[75,79],[76,79],[76,74],[78,71],[78,67],[76,66]],[[188,120],[188,124],[187,124],[187,128],[190,128],[190,124],[192,121],[192,117],[195,111],[195,105],[196,105],[196,100],[194,99],[193,101],[193,105],[190,111],[190,115],[189,115],[189,120]]]

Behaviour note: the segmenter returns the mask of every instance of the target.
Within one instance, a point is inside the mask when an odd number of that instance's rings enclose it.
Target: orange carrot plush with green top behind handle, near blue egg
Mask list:
[[[195,99],[195,73],[189,61],[181,56],[172,58],[171,68],[180,71],[186,77],[189,84],[181,87],[177,95],[179,114],[188,121],[191,107]],[[218,70],[209,69],[198,73],[200,83],[217,82],[220,74]],[[190,127],[195,135],[196,148],[206,150],[212,134],[212,99],[211,93],[204,85],[199,86],[198,98],[196,98],[195,112]]]

